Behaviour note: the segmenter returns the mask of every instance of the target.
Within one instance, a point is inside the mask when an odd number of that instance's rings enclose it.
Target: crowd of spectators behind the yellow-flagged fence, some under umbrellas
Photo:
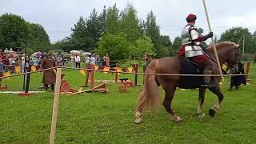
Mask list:
[[[26,55],[20,54],[13,50],[4,50],[0,52],[0,73],[10,71],[10,73],[15,72],[26,72],[26,68],[30,66],[35,66],[37,70],[40,69],[42,59],[46,57],[46,52],[38,52],[37,54]],[[105,54],[103,58],[97,54],[64,54],[64,53],[55,53],[50,54],[54,59],[55,66],[68,66],[72,68],[81,68],[82,60],[86,63],[86,66],[98,65],[98,66],[110,66],[110,58],[108,54]],[[69,56],[70,55],[70,56]],[[15,67],[20,66],[20,71],[15,70]]]

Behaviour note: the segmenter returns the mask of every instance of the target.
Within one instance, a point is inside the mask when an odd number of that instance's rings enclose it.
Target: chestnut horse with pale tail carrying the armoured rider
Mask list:
[[[218,51],[218,58],[220,64],[225,62],[226,64],[232,66],[238,62],[238,49],[239,46],[233,42],[219,42],[216,44],[216,49]],[[213,74],[220,74],[218,69],[217,61],[214,57],[214,46],[209,46],[207,49],[210,52],[212,62],[214,65]],[[153,60],[147,67],[146,73],[154,74],[179,74],[180,72],[180,57],[167,57],[161,59]],[[146,74],[144,77],[144,88],[142,93],[139,95],[138,104],[135,114],[135,123],[140,123],[142,121],[142,110],[145,106],[154,106],[158,103],[159,92],[158,86],[162,86],[165,90],[165,98],[162,105],[166,108],[170,117],[174,122],[179,122],[182,120],[178,115],[174,113],[171,107],[171,102],[174,98],[174,92],[179,86],[179,76],[166,76],[166,75],[154,75]],[[209,88],[211,92],[218,96],[218,102],[213,108],[209,110],[210,116],[214,116],[222,103],[224,98],[218,83],[222,80],[221,77],[211,77],[211,81],[216,85],[214,88]],[[199,87],[199,100],[198,100],[198,114],[200,118],[205,116],[202,105],[204,102],[206,93],[206,87]]]

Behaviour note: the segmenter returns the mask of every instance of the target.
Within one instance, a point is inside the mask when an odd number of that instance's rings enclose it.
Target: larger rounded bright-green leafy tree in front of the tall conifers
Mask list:
[[[98,42],[98,54],[109,54],[111,59],[121,60],[129,58],[131,44],[126,39],[126,34],[105,34]]]

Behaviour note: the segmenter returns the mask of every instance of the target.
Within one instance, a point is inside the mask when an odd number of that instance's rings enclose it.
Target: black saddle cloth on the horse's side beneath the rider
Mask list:
[[[193,62],[189,58],[180,57],[180,71],[179,74],[203,74],[204,67]],[[179,88],[182,89],[196,89],[204,85],[203,77],[180,76]]]

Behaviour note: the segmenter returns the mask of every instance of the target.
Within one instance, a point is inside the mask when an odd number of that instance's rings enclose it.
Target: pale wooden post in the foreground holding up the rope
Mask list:
[[[53,115],[51,119],[51,128],[50,128],[50,144],[54,144],[54,140],[55,140],[55,132],[56,132],[56,124],[57,124],[57,116],[58,116],[58,98],[59,98],[59,91],[61,86],[61,74],[62,74],[62,68],[57,68],[55,91],[54,91]]]

